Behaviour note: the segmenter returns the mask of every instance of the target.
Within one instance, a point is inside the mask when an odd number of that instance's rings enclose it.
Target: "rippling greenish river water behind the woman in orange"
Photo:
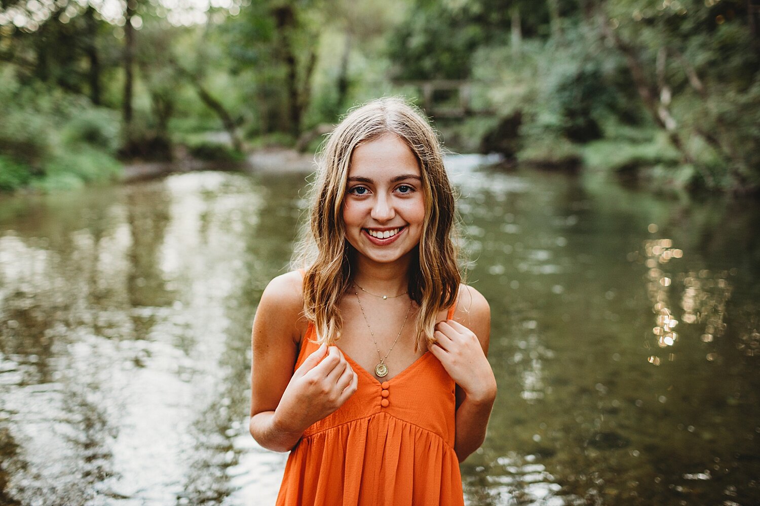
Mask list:
[[[499,396],[467,504],[760,504],[760,206],[447,165]],[[0,199],[0,504],[274,504],[250,329],[306,174]]]

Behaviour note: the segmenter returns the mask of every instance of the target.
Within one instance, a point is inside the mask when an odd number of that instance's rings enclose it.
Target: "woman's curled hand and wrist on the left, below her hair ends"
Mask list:
[[[359,377],[340,349],[321,344],[293,372],[274,412],[276,424],[287,432],[302,433],[342,406],[358,385]]]

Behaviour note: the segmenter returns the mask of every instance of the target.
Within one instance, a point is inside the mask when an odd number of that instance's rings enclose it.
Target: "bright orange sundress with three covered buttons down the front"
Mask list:
[[[309,322],[294,371],[317,349],[315,337]],[[427,351],[379,382],[344,356],[359,388],[290,451],[277,506],[463,506],[455,384],[439,360]]]

